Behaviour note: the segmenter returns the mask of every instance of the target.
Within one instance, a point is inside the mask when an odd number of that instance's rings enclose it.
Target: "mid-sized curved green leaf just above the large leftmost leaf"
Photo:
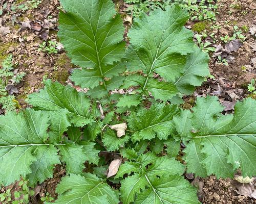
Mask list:
[[[77,92],[71,86],[63,86],[58,82],[47,80],[45,88],[39,93],[29,95],[29,104],[39,110],[58,111],[67,109],[71,122],[75,126],[91,123],[90,100],[82,92]]]

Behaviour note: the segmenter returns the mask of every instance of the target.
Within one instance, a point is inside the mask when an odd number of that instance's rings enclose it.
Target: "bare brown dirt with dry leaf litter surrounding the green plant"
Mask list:
[[[61,46],[57,54],[48,54],[38,50],[39,44],[44,40],[58,41],[58,0],[43,0],[38,8],[26,12],[13,12],[11,10],[14,0],[0,0],[0,7],[7,3],[7,8],[0,15],[1,27],[9,28],[9,32],[0,33],[0,64],[3,59],[13,55],[13,61],[17,72],[26,72],[27,75],[22,83],[18,85],[19,93],[16,98],[22,107],[26,107],[26,98],[29,93],[42,88],[43,81],[52,79],[62,84],[67,84],[68,77],[74,65]],[[19,1],[25,2],[25,1]],[[212,25],[219,25],[219,29],[206,27],[208,34],[214,33],[218,41],[212,42],[217,47],[216,53],[210,54],[209,69],[215,79],[208,79],[199,87],[193,96],[185,97],[184,106],[193,106],[194,99],[198,95],[217,95],[226,107],[226,112],[232,112],[234,103],[237,100],[247,97],[250,92],[247,85],[251,79],[256,78],[256,40],[255,34],[249,28],[254,28],[256,32],[256,1],[238,1],[236,8],[230,8],[233,0],[219,0],[217,21]],[[126,23],[127,24],[127,23]],[[188,22],[187,27],[193,28],[195,22]],[[221,37],[232,36],[233,27],[237,25],[243,29],[246,36],[245,41],[236,49],[229,52]],[[252,30],[251,30],[252,31]],[[214,39],[210,39],[214,41]],[[237,46],[237,45],[236,45]],[[228,65],[219,63],[218,56],[226,58]],[[252,95],[255,98],[255,95]],[[40,203],[40,197],[46,192],[56,198],[55,188],[60,182],[61,176],[65,175],[65,169],[57,166],[53,179],[49,179],[43,184],[35,187],[35,195],[31,197],[31,203]],[[254,186],[241,187],[241,183],[235,180],[218,180],[215,176],[206,179],[187,178],[199,188],[199,200],[202,203],[256,203],[252,198]],[[12,185],[12,192],[18,187]],[[6,188],[2,188],[1,192]]]

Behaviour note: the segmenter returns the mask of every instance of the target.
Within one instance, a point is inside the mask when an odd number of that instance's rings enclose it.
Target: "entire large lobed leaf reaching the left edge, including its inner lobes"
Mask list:
[[[98,163],[94,143],[62,139],[70,125],[65,114],[51,119],[46,112],[33,109],[0,116],[0,183],[9,185],[20,176],[27,176],[31,185],[44,182],[53,176],[60,160],[66,163],[68,174],[81,173],[85,161]]]

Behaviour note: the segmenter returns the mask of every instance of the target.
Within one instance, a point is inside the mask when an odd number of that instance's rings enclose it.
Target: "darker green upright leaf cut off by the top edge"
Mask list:
[[[58,36],[72,63],[82,67],[74,71],[71,80],[83,88],[103,82],[106,90],[104,78],[125,69],[120,63],[125,50],[122,18],[111,0],[61,0],[61,4],[66,13],[59,14]]]

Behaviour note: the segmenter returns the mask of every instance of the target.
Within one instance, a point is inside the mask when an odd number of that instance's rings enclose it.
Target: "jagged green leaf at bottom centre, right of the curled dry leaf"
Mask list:
[[[145,166],[151,164],[146,169]],[[124,204],[135,203],[199,203],[197,190],[180,175],[184,166],[174,158],[157,157],[151,152],[138,157],[136,162],[125,162],[116,177],[124,174],[121,182],[121,200]]]

